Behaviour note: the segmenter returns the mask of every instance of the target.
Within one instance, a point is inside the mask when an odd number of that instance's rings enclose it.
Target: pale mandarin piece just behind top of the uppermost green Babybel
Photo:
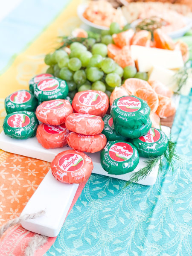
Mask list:
[[[135,95],[135,92],[140,89],[145,87],[146,90],[152,90],[151,86],[148,84],[147,81],[144,81],[142,79],[138,78],[128,78],[125,80],[124,84],[122,87],[125,88],[127,91],[128,95]]]

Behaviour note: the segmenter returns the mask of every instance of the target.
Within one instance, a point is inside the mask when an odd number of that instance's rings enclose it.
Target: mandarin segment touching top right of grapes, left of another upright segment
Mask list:
[[[130,45],[131,38],[134,36],[134,30],[128,29],[126,31],[120,32],[118,34],[113,34],[112,38],[114,43],[122,48],[125,45]]]

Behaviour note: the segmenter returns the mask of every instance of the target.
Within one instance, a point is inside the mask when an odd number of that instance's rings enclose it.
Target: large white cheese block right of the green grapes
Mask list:
[[[179,50],[170,51],[131,45],[131,56],[137,61],[137,67],[140,72],[148,72],[154,65],[172,70],[177,70],[184,66]]]

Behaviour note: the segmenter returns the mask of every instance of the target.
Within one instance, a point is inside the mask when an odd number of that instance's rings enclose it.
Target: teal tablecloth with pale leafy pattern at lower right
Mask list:
[[[91,175],[45,256],[192,256],[192,96],[172,128],[182,162],[154,186]]]

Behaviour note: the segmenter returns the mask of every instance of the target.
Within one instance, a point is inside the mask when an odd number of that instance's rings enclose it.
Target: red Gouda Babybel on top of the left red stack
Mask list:
[[[66,117],[73,113],[73,108],[66,99],[53,99],[42,102],[35,113],[38,120],[45,124],[61,125]]]

